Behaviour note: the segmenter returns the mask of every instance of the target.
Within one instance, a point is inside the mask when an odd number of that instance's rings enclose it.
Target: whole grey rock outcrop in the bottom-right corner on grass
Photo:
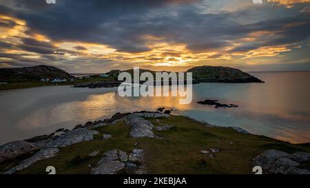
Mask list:
[[[296,152],[287,154],[276,149],[269,149],[254,158],[254,166],[260,166],[269,174],[310,174],[307,169],[300,169],[298,161],[306,162],[307,156],[310,154],[305,152]],[[293,160],[295,159],[295,160]],[[300,160],[302,159],[302,160]],[[307,160],[306,160],[307,159]]]

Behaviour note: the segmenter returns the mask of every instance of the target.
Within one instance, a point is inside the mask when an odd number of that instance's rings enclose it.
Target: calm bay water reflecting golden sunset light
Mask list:
[[[266,83],[200,83],[193,85],[193,102],[176,97],[122,98],[117,88],[37,87],[0,92],[0,144],[50,134],[58,128],[108,118],[116,112],[154,111],[169,107],[220,126],[237,126],[291,143],[310,142],[310,72],[252,73]],[[218,99],[238,108],[198,105]]]

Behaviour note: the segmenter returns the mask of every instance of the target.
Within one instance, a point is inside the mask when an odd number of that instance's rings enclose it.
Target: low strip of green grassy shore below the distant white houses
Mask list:
[[[90,77],[90,79],[83,79],[83,80],[76,79],[75,81],[67,81],[65,83],[43,83],[43,82],[8,83],[5,85],[0,85],[0,90],[14,90],[29,87],[41,87],[41,86],[53,86],[53,85],[75,85],[80,83],[94,83],[99,81],[114,81],[114,79],[92,76]]]

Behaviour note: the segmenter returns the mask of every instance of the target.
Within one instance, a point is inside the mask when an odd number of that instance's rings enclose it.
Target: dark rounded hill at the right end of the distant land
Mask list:
[[[187,72],[193,73],[193,79],[198,82],[216,82],[216,83],[262,83],[250,74],[231,67],[220,66],[200,66],[193,67]]]

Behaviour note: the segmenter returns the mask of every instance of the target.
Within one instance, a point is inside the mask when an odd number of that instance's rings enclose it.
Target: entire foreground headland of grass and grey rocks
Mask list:
[[[309,144],[293,145],[169,113],[117,113],[0,146],[2,174],[310,174]]]

